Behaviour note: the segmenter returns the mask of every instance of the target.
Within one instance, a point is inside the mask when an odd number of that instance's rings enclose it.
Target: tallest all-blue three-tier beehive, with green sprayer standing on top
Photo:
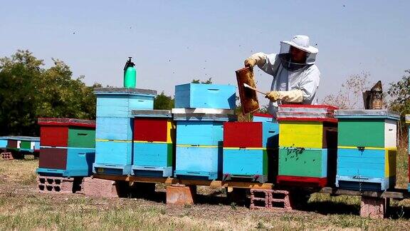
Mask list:
[[[133,109],[152,110],[157,91],[136,88],[96,88],[97,120],[94,173],[130,175]]]

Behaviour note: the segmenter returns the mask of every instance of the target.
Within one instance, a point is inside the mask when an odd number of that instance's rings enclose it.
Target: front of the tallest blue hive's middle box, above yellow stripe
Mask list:
[[[132,140],[132,121],[125,117],[97,117],[95,139]]]

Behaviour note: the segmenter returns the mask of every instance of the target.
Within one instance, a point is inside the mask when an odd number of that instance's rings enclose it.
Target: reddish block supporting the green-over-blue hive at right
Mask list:
[[[389,198],[363,197],[360,203],[360,216],[370,218],[384,218]]]

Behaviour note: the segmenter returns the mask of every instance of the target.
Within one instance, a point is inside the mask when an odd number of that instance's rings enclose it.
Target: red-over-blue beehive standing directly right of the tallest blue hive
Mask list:
[[[132,175],[169,177],[174,162],[175,125],[171,111],[133,110]]]

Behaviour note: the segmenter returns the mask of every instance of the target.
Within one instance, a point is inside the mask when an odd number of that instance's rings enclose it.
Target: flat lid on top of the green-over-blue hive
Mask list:
[[[337,110],[336,118],[389,118],[399,120],[400,116],[389,110]]]

